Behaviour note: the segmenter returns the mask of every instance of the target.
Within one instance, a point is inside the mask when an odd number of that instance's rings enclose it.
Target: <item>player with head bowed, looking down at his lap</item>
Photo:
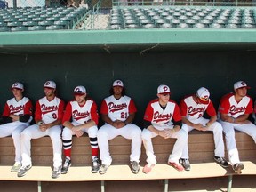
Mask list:
[[[204,118],[204,113],[210,116],[210,119]],[[210,92],[208,89],[201,87],[196,94],[189,95],[180,101],[180,114],[182,117],[182,129],[190,132],[193,129],[198,131],[213,132],[215,151],[214,160],[222,167],[228,167],[228,162],[225,160],[224,142],[222,134],[222,126],[217,120],[216,110],[210,100]],[[180,164],[183,165],[186,171],[190,170],[188,160],[188,146],[183,149],[180,158]]]

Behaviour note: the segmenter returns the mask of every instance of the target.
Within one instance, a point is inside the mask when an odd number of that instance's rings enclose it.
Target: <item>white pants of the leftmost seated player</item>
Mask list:
[[[21,163],[20,132],[28,127],[28,125],[28,123],[22,123],[20,121],[0,125],[0,138],[12,135],[15,148],[15,162],[17,163]]]

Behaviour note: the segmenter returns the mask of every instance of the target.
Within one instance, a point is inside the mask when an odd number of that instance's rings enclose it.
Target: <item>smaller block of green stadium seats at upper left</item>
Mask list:
[[[84,7],[3,9],[0,10],[0,32],[70,29],[87,12]]]

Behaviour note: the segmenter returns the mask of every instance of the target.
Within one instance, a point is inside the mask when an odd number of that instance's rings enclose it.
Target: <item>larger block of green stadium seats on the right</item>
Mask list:
[[[254,8],[113,9],[110,29],[124,28],[255,28]]]

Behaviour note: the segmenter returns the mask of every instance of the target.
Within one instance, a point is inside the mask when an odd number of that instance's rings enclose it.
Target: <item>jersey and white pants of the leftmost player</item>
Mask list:
[[[22,100],[7,100],[4,106],[3,116],[10,116],[11,114],[16,116],[29,115],[28,122],[14,121],[0,125],[0,138],[12,135],[14,148],[15,148],[15,162],[21,163],[20,152],[20,132],[22,132],[32,120],[32,102],[27,97],[23,97]]]

